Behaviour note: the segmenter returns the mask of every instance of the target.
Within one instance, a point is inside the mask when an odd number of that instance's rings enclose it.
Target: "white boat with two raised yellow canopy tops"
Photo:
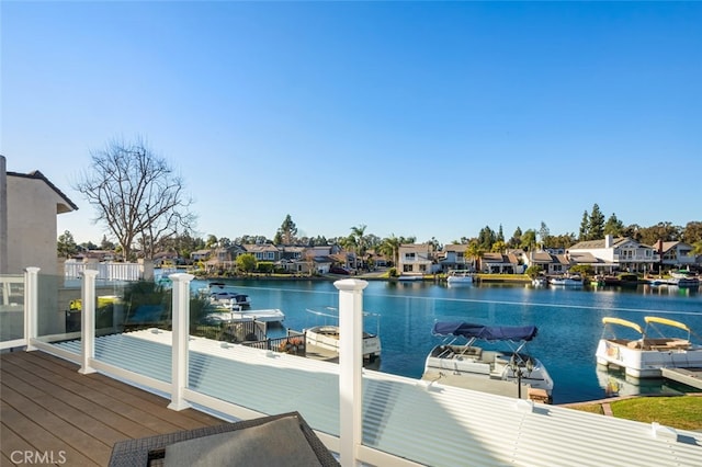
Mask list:
[[[661,368],[702,367],[702,345],[690,341],[692,331],[687,324],[655,316],[646,316],[644,320],[646,327],[642,329],[625,319],[602,318],[604,329],[596,351],[598,365],[624,368],[626,375],[635,378],[660,378]],[[681,337],[672,337],[670,330],[663,333],[657,324],[681,330],[676,332]],[[626,329],[634,339],[618,338],[616,327]],[[654,330],[661,337],[652,337]]]

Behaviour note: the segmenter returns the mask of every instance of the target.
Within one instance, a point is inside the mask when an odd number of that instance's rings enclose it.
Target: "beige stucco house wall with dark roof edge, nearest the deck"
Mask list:
[[[8,172],[0,156],[0,274],[63,275],[56,255],[56,215],[78,206],[42,172]]]

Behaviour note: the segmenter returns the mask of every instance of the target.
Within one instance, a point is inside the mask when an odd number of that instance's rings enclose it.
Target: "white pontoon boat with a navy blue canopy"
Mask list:
[[[489,327],[438,321],[432,334],[443,337],[444,342],[427,355],[422,379],[502,395],[513,394],[517,387],[518,397],[525,385],[544,394],[544,401],[550,402],[553,379],[539,358],[523,352],[536,332],[535,326]],[[491,350],[492,343],[509,350]]]

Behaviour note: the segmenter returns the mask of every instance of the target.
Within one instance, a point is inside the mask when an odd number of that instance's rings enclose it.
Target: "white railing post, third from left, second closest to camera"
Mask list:
[[[172,362],[171,362],[171,403],[169,409],[183,410],[190,408],[183,397],[188,386],[188,339],[190,337],[190,282],[192,274],[171,274],[173,283],[173,330],[172,330]]]

